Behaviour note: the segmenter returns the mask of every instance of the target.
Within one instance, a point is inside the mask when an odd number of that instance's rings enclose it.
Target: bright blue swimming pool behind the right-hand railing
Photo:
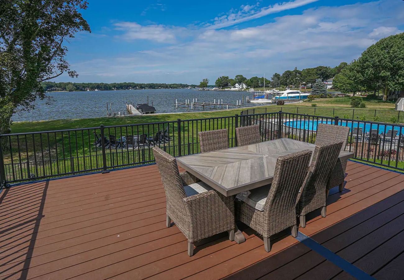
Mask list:
[[[328,123],[328,124],[334,124],[334,121],[328,120],[328,121],[321,121],[321,120],[298,120],[298,121],[286,121],[284,122],[284,125],[288,127],[293,127],[293,128],[299,128],[299,129],[306,129],[306,130],[313,130],[317,131],[317,125],[318,123]],[[370,131],[370,125],[372,126],[372,129],[377,129],[378,125],[376,123],[362,123],[362,122],[357,122],[357,121],[340,121],[339,125],[342,126],[347,126],[351,129],[357,128],[357,127],[362,127],[364,133]],[[390,129],[397,130],[400,132],[401,129],[401,134],[404,134],[404,127],[398,126],[398,125],[380,125],[379,124],[379,134],[381,133],[387,133]],[[398,134],[397,134],[398,135]]]

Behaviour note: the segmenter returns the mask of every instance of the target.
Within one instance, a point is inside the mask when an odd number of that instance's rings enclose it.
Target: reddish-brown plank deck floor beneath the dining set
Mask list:
[[[299,230],[377,279],[403,279],[404,175],[351,161],[347,173],[327,217]],[[188,257],[165,227],[156,165],[12,187],[0,211],[1,279],[352,278],[290,235],[267,253],[245,227],[246,242],[216,236]]]

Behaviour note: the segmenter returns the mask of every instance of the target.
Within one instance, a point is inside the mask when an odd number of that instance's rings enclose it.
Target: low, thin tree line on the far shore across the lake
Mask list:
[[[180,89],[196,87],[188,84],[165,84],[165,83],[55,83],[44,82],[42,87],[45,91],[86,91],[88,90],[120,90],[120,89]]]

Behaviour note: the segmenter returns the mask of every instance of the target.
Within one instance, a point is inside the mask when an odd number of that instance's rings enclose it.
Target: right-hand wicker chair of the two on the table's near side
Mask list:
[[[316,145],[309,172],[297,197],[297,214],[300,226],[306,227],[306,214],[321,209],[326,216],[326,192],[330,173],[335,168],[343,141]]]

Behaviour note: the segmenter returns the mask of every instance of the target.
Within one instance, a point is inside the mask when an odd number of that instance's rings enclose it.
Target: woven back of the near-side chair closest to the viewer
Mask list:
[[[296,199],[306,177],[311,157],[310,150],[278,157],[274,179],[264,206],[264,231],[278,233],[296,223]],[[267,236],[265,235],[265,236]]]

